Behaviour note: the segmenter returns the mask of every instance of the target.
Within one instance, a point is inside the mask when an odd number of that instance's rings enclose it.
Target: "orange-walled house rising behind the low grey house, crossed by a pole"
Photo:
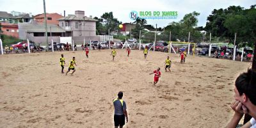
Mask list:
[[[57,19],[60,19],[63,16],[58,13],[46,13],[46,17],[47,17],[47,24],[58,25],[59,21]],[[34,20],[38,24],[44,24],[44,13],[35,15]]]

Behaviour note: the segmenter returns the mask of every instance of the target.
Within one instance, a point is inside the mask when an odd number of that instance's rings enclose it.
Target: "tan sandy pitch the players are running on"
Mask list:
[[[168,53],[110,50],[8,54],[0,56],[0,127],[114,127],[113,102],[124,92],[125,127],[224,127],[236,77],[251,63],[188,56],[164,72]],[[74,76],[61,74],[60,55],[76,56]],[[153,85],[150,72],[161,68]]]

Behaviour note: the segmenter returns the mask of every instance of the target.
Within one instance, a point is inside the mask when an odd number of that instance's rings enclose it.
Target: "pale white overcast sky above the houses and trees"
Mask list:
[[[153,20],[148,19],[148,24],[161,27],[170,22],[178,22],[185,14],[193,11],[199,12],[198,26],[205,26],[207,16],[214,9],[228,8],[228,6],[241,6],[250,8],[256,4],[256,0],[45,0],[47,13],[59,13],[63,15],[74,14],[76,10],[83,10],[87,17],[100,17],[104,12],[113,12],[115,18],[121,22],[133,22],[129,18],[131,11],[141,12],[178,12],[177,19]],[[43,0],[0,0],[0,11],[2,12],[24,12],[37,15],[44,13]]]

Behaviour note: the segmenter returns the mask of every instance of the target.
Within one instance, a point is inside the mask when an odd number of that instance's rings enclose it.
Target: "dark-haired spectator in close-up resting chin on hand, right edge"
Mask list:
[[[227,128],[235,128],[244,114],[252,116],[252,119],[244,124],[243,128],[256,128],[256,72],[249,69],[248,72],[238,76],[234,92],[235,100],[230,107],[235,113]]]

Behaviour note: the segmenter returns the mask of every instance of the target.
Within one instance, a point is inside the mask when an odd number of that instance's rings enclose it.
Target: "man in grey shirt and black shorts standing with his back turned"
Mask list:
[[[122,128],[125,125],[125,118],[126,123],[128,122],[128,114],[126,111],[126,104],[124,100],[122,100],[123,92],[118,92],[118,98],[113,99],[113,104],[115,107],[115,115],[114,115],[114,122],[115,128]]]

